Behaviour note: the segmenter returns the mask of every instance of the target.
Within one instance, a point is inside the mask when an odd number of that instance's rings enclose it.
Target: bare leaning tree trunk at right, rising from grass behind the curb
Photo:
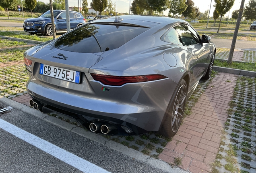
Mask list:
[[[238,30],[239,30],[239,25],[240,25],[243,10],[244,10],[244,1],[245,0],[242,0],[241,6],[240,6],[240,9],[239,9],[237,23],[236,23],[236,26],[235,26],[235,32],[234,32],[233,40],[232,40],[232,43],[231,43],[231,48],[230,48],[230,51],[229,51],[229,58],[227,59],[228,64],[232,64],[232,59],[233,59],[233,54],[234,54],[234,49],[235,49],[235,42],[236,42],[236,39],[237,39],[237,33],[238,33]]]

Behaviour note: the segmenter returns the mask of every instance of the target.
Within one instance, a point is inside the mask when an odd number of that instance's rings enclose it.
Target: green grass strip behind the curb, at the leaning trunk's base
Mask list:
[[[215,60],[214,66],[256,71],[256,64],[251,62],[232,62],[232,64],[228,64],[226,61]]]

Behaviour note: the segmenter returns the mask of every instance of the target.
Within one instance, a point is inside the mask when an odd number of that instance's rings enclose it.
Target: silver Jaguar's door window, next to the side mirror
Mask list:
[[[198,38],[194,36],[194,34],[190,30],[188,30],[187,26],[178,25],[175,26],[175,29],[178,31],[180,35],[183,46],[190,46],[199,43]]]

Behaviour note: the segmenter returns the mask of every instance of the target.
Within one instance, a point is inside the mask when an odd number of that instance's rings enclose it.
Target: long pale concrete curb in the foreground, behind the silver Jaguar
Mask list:
[[[173,173],[173,172],[188,173],[187,171],[185,171],[181,168],[171,168],[171,166],[168,163],[166,163],[165,161],[144,155],[144,154],[140,153],[140,151],[136,151],[136,150],[128,148],[120,143],[116,143],[114,141],[108,140],[101,135],[97,135],[97,134],[91,133],[89,131],[85,131],[81,127],[76,127],[75,125],[72,125],[66,121],[60,120],[56,117],[51,117],[47,114],[43,114],[40,111],[37,111],[37,110],[34,110],[34,109],[28,107],[27,105],[23,105],[19,102],[13,101],[6,97],[0,96],[0,102],[4,103],[14,109],[25,112],[29,115],[33,115],[43,121],[46,121],[48,123],[51,123],[58,127],[61,127],[62,129],[66,129],[68,131],[71,131],[71,132],[81,135],[83,137],[86,137],[90,140],[101,143],[106,147],[109,147],[115,151],[119,151],[120,153],[123,153],[124,155],[128,155],[129,157],[132,157],[142,163],[145,163],[145,164],[149,165],[150,167],[154,167],[154,168],[163,170],[168,173]]]

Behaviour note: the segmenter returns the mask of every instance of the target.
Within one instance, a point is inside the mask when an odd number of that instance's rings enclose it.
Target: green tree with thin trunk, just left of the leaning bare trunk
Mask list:
[[[215,9],[221,18],[232,8],[235,0],[214,0],[215,1]],[[219,21],[219,28],[221,27],[221,19]],[[219,33],[219,28],[217,33]]]

